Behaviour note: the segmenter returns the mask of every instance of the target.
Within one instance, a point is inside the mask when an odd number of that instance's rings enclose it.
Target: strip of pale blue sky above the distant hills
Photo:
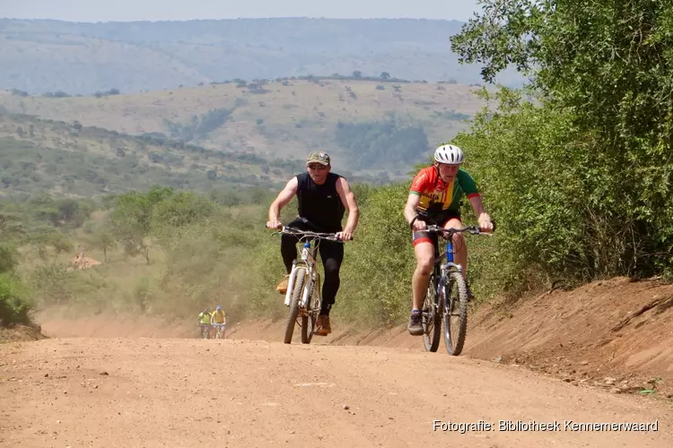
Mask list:
[[[0,0],[0,17],[71,22],[238,17],[424,18],[467,21],[478,0]]]

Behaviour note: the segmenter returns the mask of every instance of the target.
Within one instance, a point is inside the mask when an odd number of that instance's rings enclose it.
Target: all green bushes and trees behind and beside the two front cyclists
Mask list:
[[[644,0],[487,0],[452,39],[464,61],[484,67],[485,82],[512,64],[530,80],[522,90],[484,90],[486,107],[452,140],[498,223],[492,238],[468,236],[476,297],[671,276],[671,28],[673,7]],[[374,138],[380,126],[342,125],[339,138],[369,157],[385,146]],[[349,143],[363,133],[366,148]],[[350,322],[406,319],[414,257],[402,209],[415,168],[403,182],[354,182],[361,222],[345,246],[334,311]],[[274,195],[155,185],[95,199],[6,199],[3,323],[24,322],[34,304],[170,317],[221,303],[234,319],[284,316],[274,290],[284,273],[279,239],[264,227]],[[475,222],[468,202],[463,208]],[[295,210],[285,209],[285,221]],[[68,271],[82,246],[101,264]]]

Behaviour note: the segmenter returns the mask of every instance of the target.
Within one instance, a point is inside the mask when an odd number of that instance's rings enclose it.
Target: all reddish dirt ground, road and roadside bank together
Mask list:
[[[57,339],[0,345],[2,446],[669,447],[673,435],[673,285],[658,280],[479,306],[460,357],[443,342],[424,352],[404,326],[363,333],[336,319],[327,338],[288,346],[284,322],[197,340],[193,321],[50,316],[42,332]],[[481,426],[433,431],[435,419]],[[493,430],[474,430],[480,420]],[[658,426],[571,431],[564,420]]]

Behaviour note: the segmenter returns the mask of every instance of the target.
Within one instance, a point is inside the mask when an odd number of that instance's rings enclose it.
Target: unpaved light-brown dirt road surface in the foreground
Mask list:
[[[671,446],[669,403],[451,358],[441,349],[179,339],[4,344],[0,445]],[[492,430],[433,431],[433,420],[481,420]],[[499,420],[560,426],[503,431]],[[565,420],[658,426],[572,431]]]

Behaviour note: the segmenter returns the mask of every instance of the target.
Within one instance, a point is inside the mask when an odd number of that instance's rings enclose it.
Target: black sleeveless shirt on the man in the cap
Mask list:
[[[336,173],[328,173],[323,185],[318,185],[310,178],[309,173],[297,175],[297,199],[299,216],[318,226],[324,232],[342,230],[341,220],[344,218],[344,204],[337,194]]]

